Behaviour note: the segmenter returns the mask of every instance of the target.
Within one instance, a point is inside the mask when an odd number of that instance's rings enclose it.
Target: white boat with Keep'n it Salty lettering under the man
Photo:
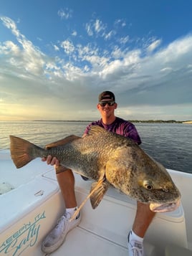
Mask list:
[[[64,212],[52,166],[35,159],[16,169],[9,150],[0,151],[0,255],[45,255],[41,244]],[[158,213],[144,239],[146,256],[192,255],[192,174],[167,169],[181,191],[181,205],[173,212]],[[81,204],[92,181],[75,174],[75,193]],[[89,201],[82,221],[67,234],[52,256],[128,256],[128,231],[136,202],[110,188],[97,209]]]

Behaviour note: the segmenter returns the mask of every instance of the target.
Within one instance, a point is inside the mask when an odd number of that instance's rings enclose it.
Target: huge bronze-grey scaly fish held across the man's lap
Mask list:
[[[61,164],[95,180],[90,202],[95,209],[110,185],[153,212],[169,212],[180,203],[181,194],[166,169],[130,138],[93,125],[85,138],[69,136],[64,145],[40,148],[22,138],[10,136],[11,158],[21,168],[37,157],[56,156]],[[55,147],[54,147],[55,146]]]

